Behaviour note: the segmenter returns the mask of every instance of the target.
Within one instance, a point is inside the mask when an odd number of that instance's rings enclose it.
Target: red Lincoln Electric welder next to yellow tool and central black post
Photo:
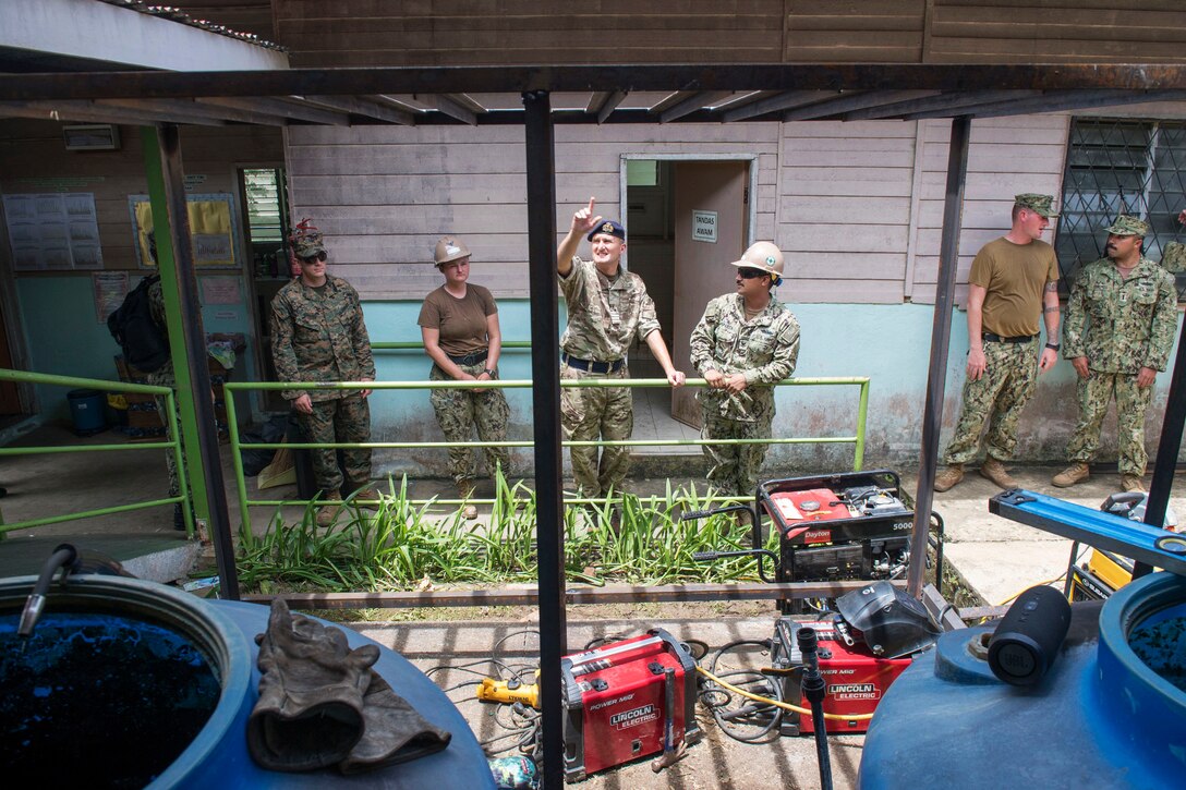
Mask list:
[[[566,782],[662,752],[669,728],[669,748],[700,740],[696,662],[663,629],[567,656],[560,667]]]

